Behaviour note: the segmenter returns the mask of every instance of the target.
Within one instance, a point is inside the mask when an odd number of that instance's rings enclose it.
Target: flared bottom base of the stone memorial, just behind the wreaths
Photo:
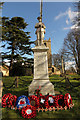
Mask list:
[[[41,87],[42,95],[55,95],[54,85],[49,80],[33,80],[29,86],[29,95],[34,95],[35,90]]]

